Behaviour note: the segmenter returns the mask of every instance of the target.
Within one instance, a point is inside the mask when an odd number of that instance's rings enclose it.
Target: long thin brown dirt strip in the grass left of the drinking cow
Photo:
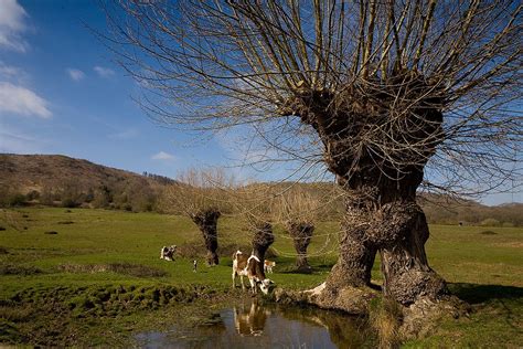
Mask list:
[[[62,264],[58,269],[66,273],[118,273],[136,277],[162,277],[167,272],[140,264],[110,263],[110,264]]]

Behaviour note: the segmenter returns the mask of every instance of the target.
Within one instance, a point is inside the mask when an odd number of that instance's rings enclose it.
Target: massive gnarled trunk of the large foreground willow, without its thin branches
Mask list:
[[[342,290],[371,285],[377,252],[386,296],[408,306],[447,294],[445,282],[428,266],[428,225],[416,203],[424,167],[444,139],[441,97],[416,73],[394,78],[388,89],[297,89],[280,108],[284,115],[299,115],[318,133],[324,161],[346,192],[340,256],[314,292],[317,303],[325,307],[361,310],[361,304],[348,303],[354,292]],[[403,88],[409,98],[398,102],[394,96]],[[425,97],[427,91],[433,97]],[[398,103],[404,103],[402,113]]]

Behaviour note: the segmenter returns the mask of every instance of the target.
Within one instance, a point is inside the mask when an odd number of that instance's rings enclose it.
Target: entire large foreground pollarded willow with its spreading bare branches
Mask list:
[[[444,298],[418,187],[466,192],[517,174],[519,1],[129,0],[108,14],[153,117],[248,125],[335,174],[346,213],[319,304],[344,308],[376,253],[385,295]]]

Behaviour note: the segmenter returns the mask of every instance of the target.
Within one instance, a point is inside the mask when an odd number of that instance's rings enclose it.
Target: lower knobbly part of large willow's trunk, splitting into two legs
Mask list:
[[[413,183],[419,173],[410,178]],[[448,295],[445,281],[428,265],[428,224],[415,201],[415,189],[397,188],[402,186],[367,187],[366,193],[380,194],[360,200],[350,193],[340,256],[327,279],[328,289],[371,286],[374,256],[380,252],[385,296],[408,306],[421,298],[438,300]]]

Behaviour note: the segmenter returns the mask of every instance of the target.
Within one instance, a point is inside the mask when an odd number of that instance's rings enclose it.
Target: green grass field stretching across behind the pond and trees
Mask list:
[[[21,209],[0,211],[0,343],[121,346],[129,334],[158,326],[153,313],[163,304],[180,315],[191,309],[189,304],[227,302],[239,294],[231,290],[228,255],[212,268],[201,258],[198,273],[189,258],[159,258],[163,245],[203,245],[186,218]],[[276,228],[271,278],[278,286],[308,288],[323,282],[337,258],[337,229],[335,222],[318,224],[309,246],[314,273],[302,275],[290,273],[291,240]],[[523,229],[433,225],[430,231],[430,265],[472,305],[472,313],[405,345],[521,346]],[[248,246],[249,234],[233,218],[221,219],[218,234],[224,251]],[[373,278],[380,279],[378,271],[376,261]]]

